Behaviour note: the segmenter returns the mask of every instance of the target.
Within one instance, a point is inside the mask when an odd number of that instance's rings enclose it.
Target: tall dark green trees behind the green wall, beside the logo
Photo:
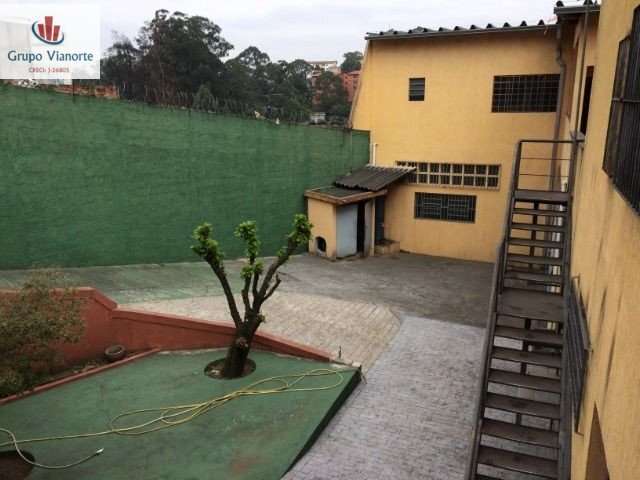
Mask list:
[[[135,42],[116,38],[102,60],[102,82],[115,84],[131,100],[202,108],[208,91],[225,111],[306,120],[311,66],[304,60],[272,62],[255,46],[223,61],[233,46],[221,33],[207,18],[158,10]]]

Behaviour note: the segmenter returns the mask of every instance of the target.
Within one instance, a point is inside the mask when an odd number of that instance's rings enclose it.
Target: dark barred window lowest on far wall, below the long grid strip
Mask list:
[[[476,197],[474,195],[416,192],[414,215],[415,218],[474,223],[476,221]]]

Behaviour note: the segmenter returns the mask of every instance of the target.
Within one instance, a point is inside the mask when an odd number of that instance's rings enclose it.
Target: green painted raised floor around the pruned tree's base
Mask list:
[[[201,402],[262,378],[327,367],[256,351],[251,358],[257,369],[251,375],[237,380],[206,377],[205,365],[223,354],[156,354],[2,406],[0,427],[14,431],[18,438],[101,431],[124,411]],[[279,479],[348,395],[355,372],[346,370],[343,375],[344,382],[333,389],[242,397],[189,423],[142,436],[25,445],[36,461],[48,464],[69,463],[104,448],[102,455],[80,466],[34,469],[29,478]],[[329,385],[335,380],[317,377],[300,386]]]

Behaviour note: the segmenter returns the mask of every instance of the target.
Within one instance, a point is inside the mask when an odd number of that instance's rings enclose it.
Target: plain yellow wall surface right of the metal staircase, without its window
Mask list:
[[[573,437],[573,479],[588,474],[597,408],[612,480],[640,478],[640,216],[602,170],[618,42],[630,31],[640,0],[603,4],[584,152],[574,204],[572,275],[579,277],[592,351],[579,432]],[[595,435],[595,434],[594,434]],[[593,448],[591,449],[593,451]]]

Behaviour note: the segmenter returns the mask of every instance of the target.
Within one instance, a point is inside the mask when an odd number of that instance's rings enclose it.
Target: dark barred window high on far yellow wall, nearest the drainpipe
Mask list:
[[[493,77],[492,112],[555,112],[559,74]]]

